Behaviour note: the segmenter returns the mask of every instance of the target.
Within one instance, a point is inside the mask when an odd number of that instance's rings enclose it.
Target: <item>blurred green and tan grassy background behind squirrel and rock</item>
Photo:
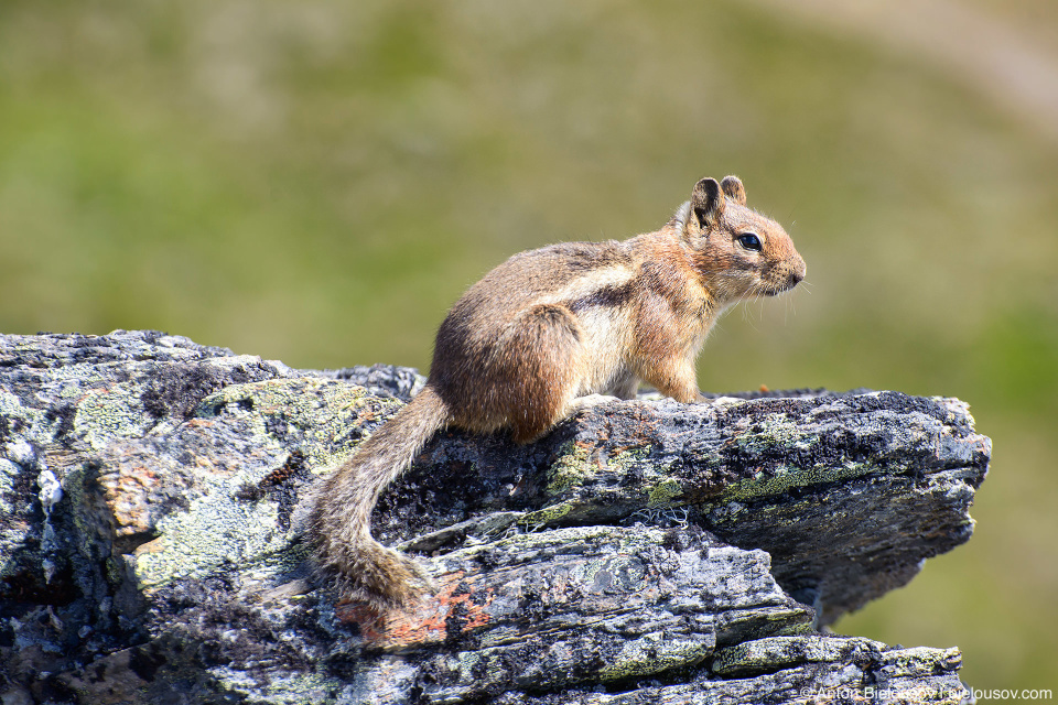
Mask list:
[[[994,441],[973,540],[838,630],[1056,688],[1058,3],[845,4],[4,0],[0,330],[425,370],[509,254],[736,173],[809,285],[701,387],[956,395]]]

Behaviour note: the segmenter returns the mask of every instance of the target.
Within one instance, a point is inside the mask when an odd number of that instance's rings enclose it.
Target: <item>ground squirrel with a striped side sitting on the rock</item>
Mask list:
[[[436,431],[506,429],[528,443],[583,398],[630,399],[640,382],[697,401],[694,359],[720,314],[803,278],[794,242],[746,207],[736,176],[698,182],[656,232],[515,254],[449,312],[423,390],[319,482],[311,533],[321,567],[343,597],[377,611],[412,603],[429,577],[371,536],[370,518]]]

